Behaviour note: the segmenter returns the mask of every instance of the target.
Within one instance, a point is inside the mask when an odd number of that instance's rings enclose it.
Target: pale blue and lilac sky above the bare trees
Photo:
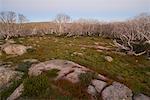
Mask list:
[[[21,13],[30,21],[50,21],[59,13],[72,19],[123,21],[150,12],[150,0],[0,0],[0,11]]]

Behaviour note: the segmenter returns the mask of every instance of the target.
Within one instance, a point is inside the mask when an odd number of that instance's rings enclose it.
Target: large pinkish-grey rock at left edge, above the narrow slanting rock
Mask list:
[[[22,75],[22,73],[13,71],[10,68],[0,67],[0,89],[12,80],[20,79]]]

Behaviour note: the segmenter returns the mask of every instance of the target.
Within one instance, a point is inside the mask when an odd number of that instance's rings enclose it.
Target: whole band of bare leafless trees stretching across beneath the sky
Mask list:
[[[101,36],[114,39],[121,50],[135,55],[149,52],[150,13],[142,13],[122,22],[100,22],[95,19],[71,20],[66,14],[58,14],[51,22],[29,23],[23,14],[12,11],[0,13],[0,37],[54,34],[58,36]],[[146,45],[146,46],[145,46]],[[142,50],[141,50],[142,48]],[[144,50],[143,50],[144,49]]]

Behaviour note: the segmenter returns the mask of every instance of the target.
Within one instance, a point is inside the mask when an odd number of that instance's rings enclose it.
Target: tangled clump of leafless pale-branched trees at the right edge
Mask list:
[[[126,49],[136,56],[149,52],[144,48],[144,44],[150,41],[150,15],[142,14],[126,22],[117,23],[114,26],[113,33],[115,37],[121,40],[121,43],[115,42],[115,44],[119,44],[122,49]]]

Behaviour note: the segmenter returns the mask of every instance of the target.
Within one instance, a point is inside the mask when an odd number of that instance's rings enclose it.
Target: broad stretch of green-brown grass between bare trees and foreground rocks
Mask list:
[[[92,48],[83,48],[79,45],[111,46],[112,40],[100,37],[26,37],[16,38],[18,43],[32,46],[34,50],[17,57],[9,57],[3,54],[0,60],[13,62],[14,66],[24,59],[38,59],[47,61],[51,59],[71,60],[97,73],[101,73],[115,81],[122,82],[131,88],[134,93],[144,93],[150,96],[150,61],[145,56],[135,57],[119,55],[111,51],[98,52]],[[22,42],[20,42],[22,41]],[[73,55],[74,52],[83,55]],[[107,62],[104,57],[111,56],[112,62]]]

